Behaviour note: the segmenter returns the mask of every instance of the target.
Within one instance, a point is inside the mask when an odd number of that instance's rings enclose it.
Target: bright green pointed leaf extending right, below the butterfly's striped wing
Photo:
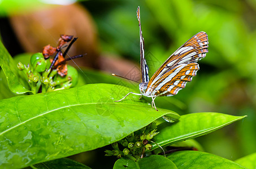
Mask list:
[[[192,113],[181,115],[179,121],[176,123],[159,124],[159,134],[154,136],[154,141],[160,146],[166,146],[180,141],[194,139],[198,136],[209,134],[244,117],[246,116],[233,116],[222,113]],[[152,150],[155,148],[158,148],[158,145],[154,144]]]

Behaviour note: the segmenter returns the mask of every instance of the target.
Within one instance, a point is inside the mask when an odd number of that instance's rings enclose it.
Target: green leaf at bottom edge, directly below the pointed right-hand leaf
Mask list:
[[[233,161],[219,157],[218,155],[197,152],[180,151],[167,155],[177,168],[245,168]]]

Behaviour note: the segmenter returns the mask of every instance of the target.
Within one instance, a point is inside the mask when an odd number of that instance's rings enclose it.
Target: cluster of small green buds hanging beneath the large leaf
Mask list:
[[[106,156],[116,155],[117,158],[127,156],[136,160],[143,157],[145,151],[151,150],[152,145],[149,144],[150,140],[157,135],[157,124],[155,122],[150,123],[144,128],[133,132],[124,139],[112,143],[114,150],[105,150]],[[122,145],[122,148],[119,148]]]

